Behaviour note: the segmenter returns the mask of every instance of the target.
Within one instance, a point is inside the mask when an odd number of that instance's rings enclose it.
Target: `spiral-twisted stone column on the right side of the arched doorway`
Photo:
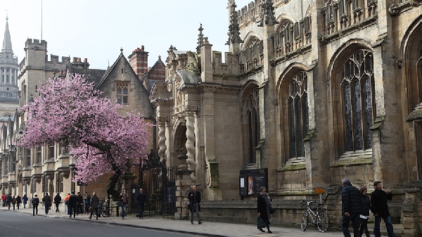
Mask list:
[[[193,126],[193,112],[186,113],[186,150],[188,155],[187,162],[188,162],[188,169],[192,171],[191,179],[193,183],[196,183],[195,177],[195,169],[196,169],[196,161],[195,161],[195,127]]]

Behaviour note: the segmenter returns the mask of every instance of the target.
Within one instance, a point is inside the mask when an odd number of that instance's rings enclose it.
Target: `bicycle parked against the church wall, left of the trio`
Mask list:
[[[322,209],[322,203],[318,203],[316,212],[314,212],[309,205],[316,203],[314,201],[300,200],[300,203],[305,203],[305,212],[303,212],[300,228],[306,231],[308,223],[314,224],[318,227],[319,231],[325,232],[330,224],[330,217],[326,210]]]

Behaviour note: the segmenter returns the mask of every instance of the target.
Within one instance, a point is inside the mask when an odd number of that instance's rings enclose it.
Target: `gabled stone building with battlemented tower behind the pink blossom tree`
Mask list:
[[[10,37],[8,37],[10,41]],[[6,39],[5,39],[6,41]],[[143,46],[142,46],[143,49]],[[148,65],[147,56],[138,58],[138,64]],[[15,59],[17,60],[17,59]],[[106,96],[117,103],[121,103],[121,113],[136,110],[143,115],[146,122],[154,123],[155,111],[150,103],[148,88],[144,82],[148,82],[148,72],[155,75],[153,81],[164,80],[160,78],[160,69],[164,63],[158,59],[156,67],[147,68],[141,77],[136,75],[136,68],[132,68],[127,58],[120,51],[120,56],[113,65],[106,70],[89,68],[88,59],[47,55],[47,42],[38,39],[27,39],[25,42],[25,58],[19,65],[20,74],[20,100],[19,106],[32,101],[39,96],[37,89],[44,79],[51,77],[68,77],[70,74],[79,74],[86,77],[89,82],[94,82],[94,88],[103,91],[101,96]],[[148,83],[146,83],[148,85]],[[15,111],[13,111],[15,113]],[[10,125],[11,124],[11,125]],[[8,120],[1,130],[0,143],[0,175],[1,193],[13,193],[23,196],[27,194],[32,198],[34,193],[43,196],[45,192],[60,193],[64,198],[70,191],[95,191],[101,199],[107,196],[106,188],[109,177],[102,177],[94,184],[78,186],[72,181],[75,176],[75,158],[68,151],[59,147],[58,144],[39,146],[34,148],[16,148],[15,141],[19,139],[20,130],[25,127],[25,114],[17,114],[15,122]],[[151,133],[155,132],[151,128]],[[154,147],[151,139],[151,148]],[[134,180],[132,180],[134,181]],[[124,183],[127,184],[127,183]],[[122,187],[118,187],[122,188]],[[124,187],[124,188],[130,188]],[[129,191],[129,190],[128,190]]]

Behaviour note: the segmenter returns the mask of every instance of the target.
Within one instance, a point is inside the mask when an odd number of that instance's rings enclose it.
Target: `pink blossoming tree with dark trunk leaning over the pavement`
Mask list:
[[[108,193],[122,174],[134,172],[148,154],[151,137],[139,113],[120,115],[121,105],[100,97],[81,75],[48,79],[34,102],[21,108],[27,120],[18,146],[30,148],[58,143],[76,158],[74,181],[92,182],[112,174]]]

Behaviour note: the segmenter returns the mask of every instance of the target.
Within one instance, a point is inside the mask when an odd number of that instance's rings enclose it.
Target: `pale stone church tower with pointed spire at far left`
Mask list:
[[[18,58],[13,54],[6,17],[3,47],[0,52],[0,121],[2,122],[7,122],[8,117],[13,120],[15,109],[19,106],[18,69]]]

